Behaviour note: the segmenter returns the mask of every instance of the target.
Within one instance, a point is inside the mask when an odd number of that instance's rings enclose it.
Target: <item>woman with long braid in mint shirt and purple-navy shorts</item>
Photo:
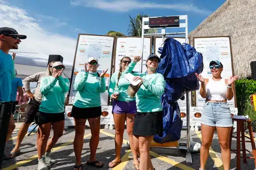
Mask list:
[[[123,132],[126,121],[126,129],[129,135],[130,148],[133,150],[133,120],[136,113],[135,98],[131,98],[127,93],[130,82],[123,76],[123,71],[131,62],[130,57],[123,57],[120,61],[119,71],[115,72],[109,83],[109,96],[113,99],[114,123],[116,129],[115,147],[116,158],[109,163],[109,168],[114,168],[121,163],[121,147],[123,144]]]

